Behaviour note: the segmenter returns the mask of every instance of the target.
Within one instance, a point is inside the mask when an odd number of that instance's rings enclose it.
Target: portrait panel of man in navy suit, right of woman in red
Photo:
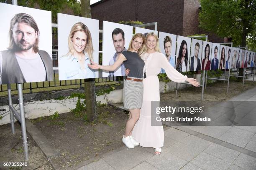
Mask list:
[[[220,45],[216,43],[212,43],[212,55],[211,55],[211,69],[210,70],[218,70],[220,63]]]

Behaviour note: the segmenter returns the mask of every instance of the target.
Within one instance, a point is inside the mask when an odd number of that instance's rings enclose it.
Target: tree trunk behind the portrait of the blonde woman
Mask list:
[[[82,17],[92,18],[90,0],[81,0]],[[97,120],[95,78],[84,79],[84,92],[86,101],[87,120],[92,122]]]

